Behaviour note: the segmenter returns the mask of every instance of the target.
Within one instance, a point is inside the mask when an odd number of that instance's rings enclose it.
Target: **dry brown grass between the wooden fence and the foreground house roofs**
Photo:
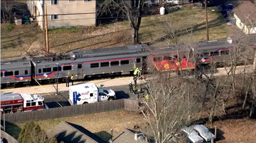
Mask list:
[[[42,129],[49,130],[53,129],[61,121],[67,121],[83,126],[85,129],[96,133],[96,135],[104,140],[110,139],[111,129],[113,129],[114,135],[116,135],[124,128],[133,129],[135,125],[142,129],[145,127],[143,115],[126,110],[37,121],[36,123],[39,123]],[[16,127],[7,126],[7,132],[12,136],[17,137],[19,134],[19,128],[22,128],[24,124],[25,123],[18,123],[16,124]]]

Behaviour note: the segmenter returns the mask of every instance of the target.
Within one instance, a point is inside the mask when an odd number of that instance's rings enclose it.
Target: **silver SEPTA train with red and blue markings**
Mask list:
[[[201,41],[193,46],[197,50],[198,64],[209,64],[212,60],[216,63],[227,62],[234,48],[234,44],[227,39]],[[35,80],[41,84],[54,83],[57,78],[58,81],[65,82],[65,77],[72,74],[74,80],[127,75],[133,73],[137,67],[147,73],[155,70],[155,62],[177,60],[178,55],[183,57],[188,54],[187,45],[179,47],[179,54],[175,46],[152,48],[141,44],[74,50],[69,55],[62,56],[1,61],[0,88],[31,85],[35,84]]]

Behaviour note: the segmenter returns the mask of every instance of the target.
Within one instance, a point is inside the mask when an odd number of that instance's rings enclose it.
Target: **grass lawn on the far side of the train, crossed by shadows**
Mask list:
[[[189,42],[186,29],[194,27],[192,41],[206,39],[204,8],[184,7],[160,16],[143,17],[140,41],[150,45],[167,45],[165,23],[172,23],[180,32],[178,42]],[[227,37],[227,24],[219,12],[208,10],[209,39]],[[7,30],[8,29],[8,30]],[[116,22],[99,27],[84,26],[49,31],[49,47],[52,53],[69,53],[72,50],[113,47],[129,44],[131,28],[128,21]],[[163,39],[163,38],[162,38]],[[169,42],[170,43],[170,42]],[[8,26],[1,24],[1,58],[43,55],[44,32],[36,23],[32,25]],[[15,54],[14,54],[15,51]]]

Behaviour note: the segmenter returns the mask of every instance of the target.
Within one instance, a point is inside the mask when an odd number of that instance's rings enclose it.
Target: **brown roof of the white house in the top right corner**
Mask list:
[[[250,25],[251,22],[254,26],[256,25],[256,7],[250,0],[244,0],[243,3],[234,8],[234,13],[245,25]]]

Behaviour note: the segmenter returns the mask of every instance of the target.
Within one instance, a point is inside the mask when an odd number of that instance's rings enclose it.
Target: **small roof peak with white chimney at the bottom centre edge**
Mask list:
[[[145,140],[143,140],[143,135],[138,137],[139,138],[138,140],[134,139],[135,134],[140,134],[140,133],[142,132],[125,128],[121,132],[119,132],[116,136],[113,137],[112,143],[145,143]]]

